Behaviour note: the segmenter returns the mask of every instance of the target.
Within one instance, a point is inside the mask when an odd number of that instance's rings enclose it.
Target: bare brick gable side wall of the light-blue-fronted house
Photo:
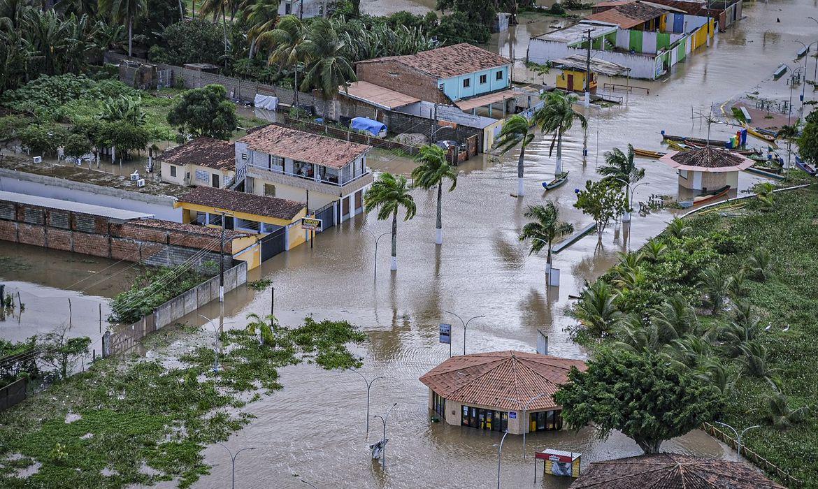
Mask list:
[[[355,71],[357,79],[363,82],[375,83],[395,92],[411,93],[420,100],[452,103],[438,88],[438,79],[393,60],[358,63]]]

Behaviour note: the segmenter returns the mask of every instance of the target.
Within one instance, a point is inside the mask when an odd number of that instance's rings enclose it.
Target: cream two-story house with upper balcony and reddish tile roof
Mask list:
[[[245,192],[303,202],[323,228],[362,212],[371,146],[270,124],[236,141]]]

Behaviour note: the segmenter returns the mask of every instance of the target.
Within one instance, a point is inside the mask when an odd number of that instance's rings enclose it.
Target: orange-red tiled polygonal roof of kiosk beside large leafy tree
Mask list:
[[[452,401],[504,410],[522,410],[532,397],[546,394],[528,405],[528,410],[543,410],[557,407],[554,394],[568,382],[574,366],[587,368],[581,360],[537,353],[474,353],[449,358],[421,376],[420,382]]]

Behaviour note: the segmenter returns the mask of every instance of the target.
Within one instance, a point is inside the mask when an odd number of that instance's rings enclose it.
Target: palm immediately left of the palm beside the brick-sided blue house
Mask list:
[[[304,43],[307,41],[307,26],[296,16],[283,16],[276,29],[258,35],[258,45],[269,50],[267,65],[279,65],[281,69],[292,69],[293,105],[299,105],[299,65],[306,59]]]

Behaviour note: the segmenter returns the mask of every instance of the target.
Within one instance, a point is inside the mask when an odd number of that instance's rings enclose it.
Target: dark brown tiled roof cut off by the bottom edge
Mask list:
[[[594,462],[571,489],[784,489],[740,462],[658,453]]]

